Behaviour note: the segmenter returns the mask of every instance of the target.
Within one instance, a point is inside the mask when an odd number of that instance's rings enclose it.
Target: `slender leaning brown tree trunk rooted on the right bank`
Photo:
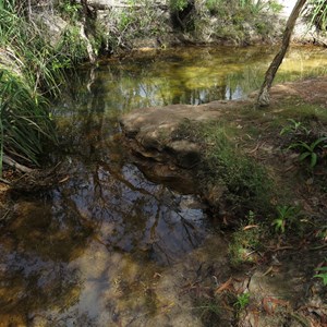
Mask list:
[[[269,89],[271,87],[275,75],[278,71],[278,68],[280,66],[282,59],[289,48],[291,35],[294,29],[296,19],[299,17],[301,10],[303,9],[305,2],[306,2],[306,0],[298,0],[296,4],[294,5],[294,8],[292,10],[292,13],[290,14],[290,16],[288,19],[287,26],[286,26],[286,29],[284,29],[283,36],[282,36],[282,44],[281,44],[280,50],[274,58],[272,62],[270,63],[267,72],[265,74],[265,81],[262,85],[258,97],[256,99],[256,107],[267,107],[270,104]]]

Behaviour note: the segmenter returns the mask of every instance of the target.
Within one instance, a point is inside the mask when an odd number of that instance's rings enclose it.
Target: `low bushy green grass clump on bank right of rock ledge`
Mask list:
[[[203,184],[220,185],[219,203],[226,211],[241,217],[249,211],[267,215],[271,210],[272,180],[265,167],[242,153],[223,125],[203,125],[202,134],[208,145],[199,168]]]

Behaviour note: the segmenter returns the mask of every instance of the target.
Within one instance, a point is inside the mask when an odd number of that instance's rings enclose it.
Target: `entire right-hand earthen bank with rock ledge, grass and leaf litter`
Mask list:
[[[232,319],[219,312],[222,304],[238,308],[232,326],[326,323],[326,287],[314,278],[326,266],[326,78],[276,85],[266,110],[253,109],[253,95],[146,108],[122,119],[142,171],[180,192],[201,193],[210,219],[233,230],[234,272],[209,287],[210,298],[197,298],[206,324]]]

